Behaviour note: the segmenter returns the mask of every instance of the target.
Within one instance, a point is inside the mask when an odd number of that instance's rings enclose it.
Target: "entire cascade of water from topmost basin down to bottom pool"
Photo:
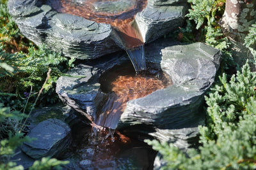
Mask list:
[[[46,3],[60,13],[70,13],[95,22],[111,24],[120,45],[125,48],[131,60],[132,64],[115,66],[102,74],[100,88],[106,96],[97,108],[97,117],[93,120],[95,127],[101,128],[93,127],[90,133],[87,130],[83,133],[80,132],[83,130],[79,127],[79,132],[75,132],[73,146],[74,152],[80,155],[79,164],[82,169],[94,167],[108,169],[120,164],[125,165],[123,160],[119,159],[120,150],[124,150],[131,143],[132,147],[141,147],[141,145],[133,146],[138,141],[134,142],[115,131],[126,103],[171,85],[168,76],[163,72],[150,67],[146,68],[143,38],[134,22],[134,16],[145,8],[147,0],[48,0]],[[140,155],[140,152],[142,151],[139,150],[134,154]],[[148,154],[146,153],[146,157]],[[118,159],[115,159],[116,155]],[[142,157],[145,155],[140,155],[138,160],[144,164],[148,159],[141,159]],[[119,164],[118,161],[122,163]],[[150,166],[152,168],[152,162],[148,162],[148,165],[143,168]],[[128,164],[124,169],[127,168],[129,168]]]

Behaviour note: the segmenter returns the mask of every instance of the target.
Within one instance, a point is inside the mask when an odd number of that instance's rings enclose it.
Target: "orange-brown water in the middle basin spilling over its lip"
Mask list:
[[[129,71],[125,67],[123,68],[124,73],[118,73],[118,70],[109,73],[106,80],[110,80],[110,83],[108,81],[101,82],[111,92],[102,104],[98,117],[95,118],[95,124],[97,125],[115,129],[128,101],[145,97],[156,90],[172,85],[172,82],[164,73],[161,73],[160,76],[129,74]],[[127,72],[126,75],[125,71]]]

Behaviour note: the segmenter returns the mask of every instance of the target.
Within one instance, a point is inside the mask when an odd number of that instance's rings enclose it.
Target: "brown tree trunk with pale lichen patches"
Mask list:
[[[225,13],[220,20],[223,33],[232,43],[234,60],[242,66],[252,53],[246,48],[244,38],[256,21],[256,0],[226,0]]]

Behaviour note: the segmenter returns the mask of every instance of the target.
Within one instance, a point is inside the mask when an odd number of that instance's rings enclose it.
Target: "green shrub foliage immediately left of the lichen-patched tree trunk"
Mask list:
[[[221,27],[218,24],[221,16],[225,11],[225,0],[189,0],[191,3],[191,9],[186,17],[189,20],[194,20],[196,23],[196,29],[201,31],[205,43],[218,48],[223,53],[223,66],[222,72],[233,69],[237,64],[232,59],[232,53],[229,49],[230,42],[228,38],[223,36]]]

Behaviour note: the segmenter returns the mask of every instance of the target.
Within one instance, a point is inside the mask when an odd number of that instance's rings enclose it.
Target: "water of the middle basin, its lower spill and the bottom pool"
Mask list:
[[[156,152],[137,139],[140,134],[128,137],[115,129],[127,101],[168,85],[171,81],[162,71],[148,67],[147,71],[136,74],[131,62],[114,66],[102,74],[100,89],[106,96],[93,121],[102,128],[76,123],[72,129],[74,143],[65,155],[77,163],[68,168],[153,169]]]

